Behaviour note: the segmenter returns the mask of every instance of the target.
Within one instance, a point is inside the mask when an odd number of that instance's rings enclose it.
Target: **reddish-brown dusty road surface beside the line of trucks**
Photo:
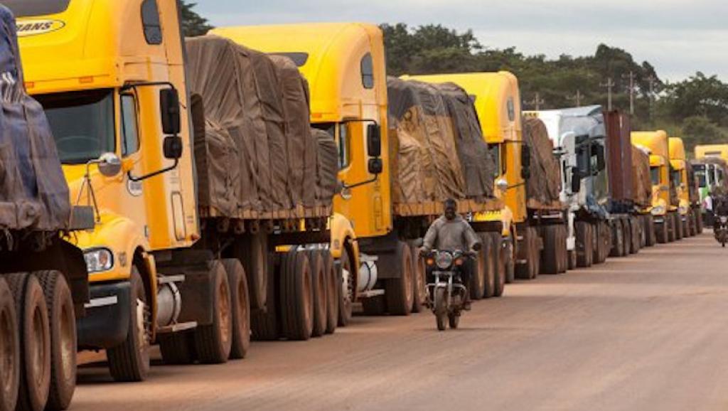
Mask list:
[[[430,313],[253,343],[146,383],[80,371],[73,410],[728,410],[728,249],[710,234]]]

